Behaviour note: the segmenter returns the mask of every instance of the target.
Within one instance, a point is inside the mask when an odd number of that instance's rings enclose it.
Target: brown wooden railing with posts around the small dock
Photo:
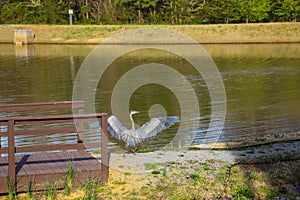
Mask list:
[[[107,114],[83,114],[83,102],[54,102],[54,103],[33,103],[33,104],[10,104],[0,105],[0,112],[12,111],[28,111],[28,110],[57,110],[57,109],[78,109],[78,114],[63,114],[63,115],[47,115],[47,116],[15,116],[0,118],[0,125],[6,126],[5,132],[0,132],[1,137],[7,137],[8,146],[0,148],[1,154],[8,154],[8,177],[12,181],[16,181],[16,153],[28,152],[44,152],[53,150],[84,150],[88,148],[101,148],[101,180],[108,180],[108,138],[107,138]],[[85,143],[82,141],[80,134],[83,132],[83,124],[87,121],[98,120],[101,123],[101,144]],[[65,124],[74,122],[73,127],[54,126],[49,127],[49,124]],[[18,130],[18,126],[27,127],[27,129]],[[28,128],[29,127],[29,128]],[[43,128],[40,128],[43,127]],[[16,146],[15,136],[34,136],[34,135],[51,135],[58,133],[77,133],[78,140],[74,144],[38,144],[30,146]]]

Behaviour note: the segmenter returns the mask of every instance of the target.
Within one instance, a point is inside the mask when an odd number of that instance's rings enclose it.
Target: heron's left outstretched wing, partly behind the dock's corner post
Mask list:
[[[120,122],[120,120],[118,120],[118,118],[114,115],[110,116],[108,118],[108,132],[115,138],[117,138],[118,140],[122,140],[121,136],[124,134],[124,132],[127,130],[122,123]],[[100,128],[101,127],[101,123],[99,121],[91,121],[88,122],[90,127],[92,128]]]

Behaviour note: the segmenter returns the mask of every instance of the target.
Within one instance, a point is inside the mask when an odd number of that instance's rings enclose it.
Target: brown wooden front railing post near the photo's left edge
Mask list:
[[[9,119],[8,121],[8,179],[13,181],[16,188],[16,163],[15,163],[15,135],[14,135],[15,121]]]

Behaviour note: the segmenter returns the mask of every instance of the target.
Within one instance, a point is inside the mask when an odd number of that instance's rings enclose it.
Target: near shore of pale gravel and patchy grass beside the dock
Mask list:
[[[93,155],[100,159],[100,152]],[[43,191],[28,187],[15,199],[299,199],[299,158],[299,142],[232,151],[115,152],[108,183],[86,177],[81,187],[72,187],[68,170],[62,179],[45,182]],[[56,190],[62,180],[70,187]]]

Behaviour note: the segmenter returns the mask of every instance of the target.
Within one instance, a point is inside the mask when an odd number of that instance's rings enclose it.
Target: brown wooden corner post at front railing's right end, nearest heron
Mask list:
[[[108,170],[109,170],[109,160],[108,160],[108,134],[107,134],[107,115],[102,115],[101,117],[101,180],[102,182],[108,182]]]

